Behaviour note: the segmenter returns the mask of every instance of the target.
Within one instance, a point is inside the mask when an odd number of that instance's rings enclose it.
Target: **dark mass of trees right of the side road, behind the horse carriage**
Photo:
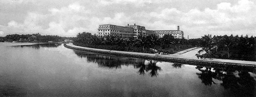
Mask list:
[[[221,59],[256,61],[256,37],[246,36],[212,36],[205,35],[198,41],[198,46],[207,54],[215,54]]]

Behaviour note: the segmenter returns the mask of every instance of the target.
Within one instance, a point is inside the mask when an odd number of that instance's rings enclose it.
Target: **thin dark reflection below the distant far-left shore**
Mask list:
[[[13,46],[13,47],[32,47],[35,49],[40,49],[40,47],[58,47],[60,45],[61,45],[61,43],[38,43],[38,44],[34,44],[34,45],[17,45],[17,46]]]

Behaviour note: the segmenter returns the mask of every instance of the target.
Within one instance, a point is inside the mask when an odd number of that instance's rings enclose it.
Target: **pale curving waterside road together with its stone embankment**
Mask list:
[[[242,67],[256,67],[256,64],[253,63],[232,63],[232,62],[220,62],[220,61],[211,61],[211,60],[197,60],[197,59],[189,59],[189,58],[179,58],[174,56],[154,56],[154,54],[148,53],[136,53],[136,52],[125,52],[125,51],[110,51],[103,49],[95,49],[95,48],[87,48],[81,46],[75,46],[72,43],[64,44],[64,47],[74,50],[82,50],[87,52],[94,52],[106,55],[116,55],[116,56],[124,56],[124,57],[132,57],[132,58],[142,58],[148,60],[157,60],[157,61],[167,61],[167,62],[177,62],[177,63],[185,63],[191,65],[205,65],[205,66],[222,66],[222,67],[233,67],[233,66],[242,66]],[[251,61],[250,61],[251,62]]]

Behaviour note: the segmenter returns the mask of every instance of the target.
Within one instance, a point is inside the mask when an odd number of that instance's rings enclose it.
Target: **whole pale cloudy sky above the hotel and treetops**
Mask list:
[[[0,0],[0,36],[97,34],[100,24],[256,36],[256,0]]]

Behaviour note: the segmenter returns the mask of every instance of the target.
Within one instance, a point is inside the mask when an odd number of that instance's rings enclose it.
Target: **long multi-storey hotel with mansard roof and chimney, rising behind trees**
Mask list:
[[[123,38],[133,37],[137,38],[140,34],[152,35],[156,34],[159,38],[164,35],[172,35],[174,38],[184,38],[183,31],[180,30],[178,26],[177,30],[146,30],[144,26],[140,25],[127,25],[127,26],[117,26],[112,24],[99,25],[99,35],[121,35]]]

